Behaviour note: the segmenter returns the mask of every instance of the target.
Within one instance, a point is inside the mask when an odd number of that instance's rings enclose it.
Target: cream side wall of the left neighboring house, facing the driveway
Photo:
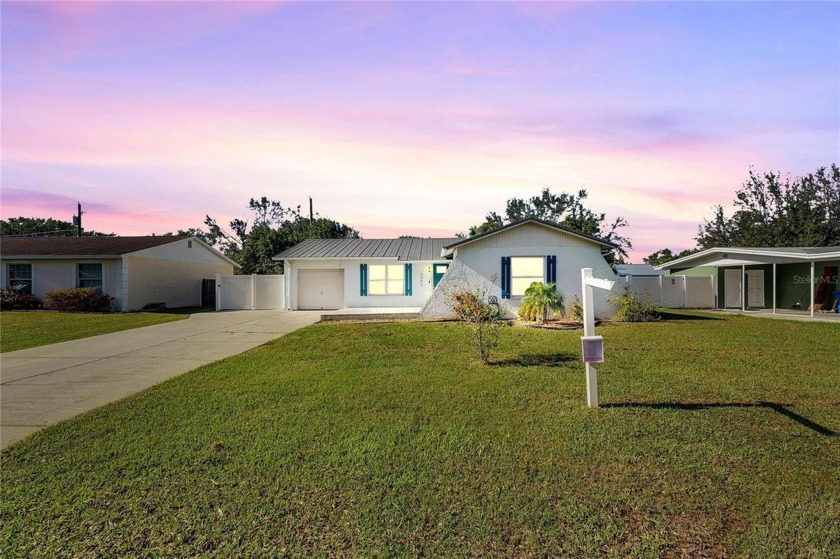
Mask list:
[[[123,311],[140,310],[152,303],[165,303],[170,308],[198,306],[202,279],[233,273],[233,265],[218,258],[195,262],[131,255],[124,257],[123,262],[128,292],[125,303],[119,307]]]

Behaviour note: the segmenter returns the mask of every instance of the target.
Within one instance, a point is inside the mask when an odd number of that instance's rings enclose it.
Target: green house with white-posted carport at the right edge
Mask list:
[[[838,306],[840,246],[712,248],[658,269],[670,275],[712,276],[719,309],[807,311],[813,316]]]

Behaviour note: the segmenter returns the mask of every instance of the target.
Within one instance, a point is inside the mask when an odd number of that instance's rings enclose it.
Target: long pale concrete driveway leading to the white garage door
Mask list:
[[[200,365],[318,322],[320,311],[227,311],[0,354],[0,448]]]

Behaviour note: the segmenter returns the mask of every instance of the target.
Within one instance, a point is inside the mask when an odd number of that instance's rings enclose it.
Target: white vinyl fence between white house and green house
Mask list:
[[[637,297],[650,300],[667,309],[713,309],[715,282],[713,276],[659,276],[624,278]]]

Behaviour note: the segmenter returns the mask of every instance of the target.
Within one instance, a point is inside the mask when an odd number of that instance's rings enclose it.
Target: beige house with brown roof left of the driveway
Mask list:
[[[43,299],[60,288],[92,287],[118,311],[163,303],[201,304],[201,280],[232,274],[235,263],[194,237],[3,237],[3,289]]]

